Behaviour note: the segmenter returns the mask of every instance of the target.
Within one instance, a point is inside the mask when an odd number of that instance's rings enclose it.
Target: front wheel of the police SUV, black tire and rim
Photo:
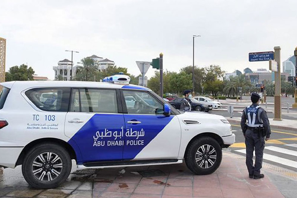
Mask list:
[[[205,155],[203,155],[204,153],[202,147],[205,149]],[[208,151],[207,148],[209,148]],[[199,155],[198,152],[202,155]],[[214,156],[216,158],[214,158]],[[216,171],[221,164],[222,148],[214,138],[201,137],[190,143],[184,159],[187,167],[193,173],[196,175],[208,175]]]

